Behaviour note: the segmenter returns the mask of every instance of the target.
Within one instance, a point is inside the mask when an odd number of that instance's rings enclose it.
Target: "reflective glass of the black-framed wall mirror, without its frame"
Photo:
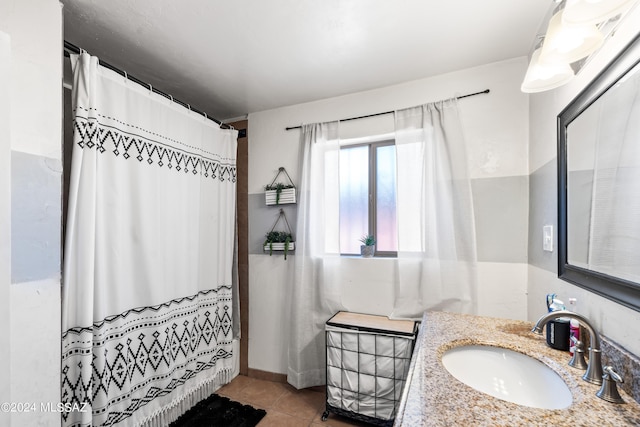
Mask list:
[[[568,264],[640,282],[640,65],[567,127]]]

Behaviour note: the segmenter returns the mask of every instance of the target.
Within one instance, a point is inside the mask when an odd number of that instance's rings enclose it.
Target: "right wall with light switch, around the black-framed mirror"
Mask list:
[[[578,311],[595,327],[636,355],[640,355],[640,334],[631,325],[640,325],[640,313],[557,278],[557,251],[542,252],[542,226],[557,229],[557,145],[556,117],[562,109],[626,46],[640,28],[640,8],[636,7],[605,45],[592,56],[568,85],[530,96],[530,200],[528,319],[546,311],[544,296],[557,293],[561,299],[578,299]],[[555,233],[554,233],[555,234]],[[554,246],[557,246],[555,238]]]

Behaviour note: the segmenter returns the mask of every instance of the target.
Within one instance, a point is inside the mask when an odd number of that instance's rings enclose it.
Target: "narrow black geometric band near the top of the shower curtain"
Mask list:
[[[112,117],[109,118],[113,120]],[[228,159],[216,158],[214,153],[202,149],[196,150],[194,147],[157,133],[153,135],[158,139],[166,139],[173,144],[178,143],[184,147],[184,150],[176,150],[173,146],[165,145],[159,140],[151,140],[104,125],[91,117],[76,116],[73,126],[74,142],[83,149],[95,148],[101,154],[112,153],[115,156],[122,156],[125,160],[134,158],[149,165],[166,166],[176,172],[191,172],[193,175],[204,175],[205,178],[236,182],[235,161],[227,163]]]

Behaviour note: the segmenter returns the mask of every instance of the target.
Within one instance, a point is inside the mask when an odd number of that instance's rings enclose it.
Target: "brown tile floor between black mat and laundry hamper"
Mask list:
[[[343,427],[365,424],[330,414],[322,421],[325,393],[322,388],[296,390],[289,384],[239,375],[217,391],[221,396],[267,411],[258,427]]]

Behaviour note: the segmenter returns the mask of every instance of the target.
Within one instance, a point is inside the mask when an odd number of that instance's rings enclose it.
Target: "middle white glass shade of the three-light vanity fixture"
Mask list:
[[[560,10],[549,21],[540,53],[540,59],[544,62],[570,64],[591,55],[604,42],[604,35],[594,24],[564,24],[563,14],[564,10]]]

